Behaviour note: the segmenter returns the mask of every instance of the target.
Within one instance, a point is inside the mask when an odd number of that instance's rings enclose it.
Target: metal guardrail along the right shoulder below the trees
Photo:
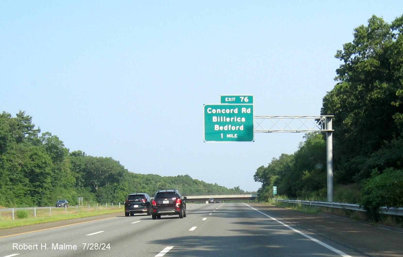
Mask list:
[[[366,210],[359,206],[358,204],[341,204],[337,202],[311,202],[311,201],[301,201],[301,200],[287,200],[287,199],[273,199],[279,202],[288,202],[291,204],[305,204],[312,206],[322,206],[329,208],[338,208],[338,209],[347,209],[347,210],[357,210],[361,212],[365,212]],[[395,215],[395,216],[403,216],[403,208],[393,208],[393,207],[379,207],[379,213]]]

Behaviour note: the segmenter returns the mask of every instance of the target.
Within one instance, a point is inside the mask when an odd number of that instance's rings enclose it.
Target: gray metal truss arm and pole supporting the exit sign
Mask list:
[[[333,202],[333,115],[321,116],[255,116],[254,131],[326,132],[327,200]]]

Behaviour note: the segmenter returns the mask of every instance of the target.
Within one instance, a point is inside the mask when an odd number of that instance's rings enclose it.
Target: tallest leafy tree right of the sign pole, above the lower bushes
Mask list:
[[[354,182],[359,162],[402,134],[403,16],[391,24],[372,16],[338,50],[338,84],[323,99],[334,114],[334,156],[339,182]]]

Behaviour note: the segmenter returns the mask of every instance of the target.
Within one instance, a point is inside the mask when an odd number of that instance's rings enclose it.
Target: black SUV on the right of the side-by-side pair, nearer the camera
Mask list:
[[[186,217],[186,196],[182,197],[178,190],[158,190],[152,200],[152,219],[161,215],[179,215]]]

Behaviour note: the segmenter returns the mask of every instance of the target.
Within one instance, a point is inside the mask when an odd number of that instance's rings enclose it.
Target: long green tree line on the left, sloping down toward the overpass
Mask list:
[[[189,175],[162,177],[125,169],[110,157],[94,157],[81,150],[69,151],[50,132],[35,129],[32,117],[0,114],[0,205],[5,207],[53,206],[58,199],[71,205],[124,202],[127,195],[143,192],[154,196],[160,189],[179,189],[183,195],[239,194]]]

